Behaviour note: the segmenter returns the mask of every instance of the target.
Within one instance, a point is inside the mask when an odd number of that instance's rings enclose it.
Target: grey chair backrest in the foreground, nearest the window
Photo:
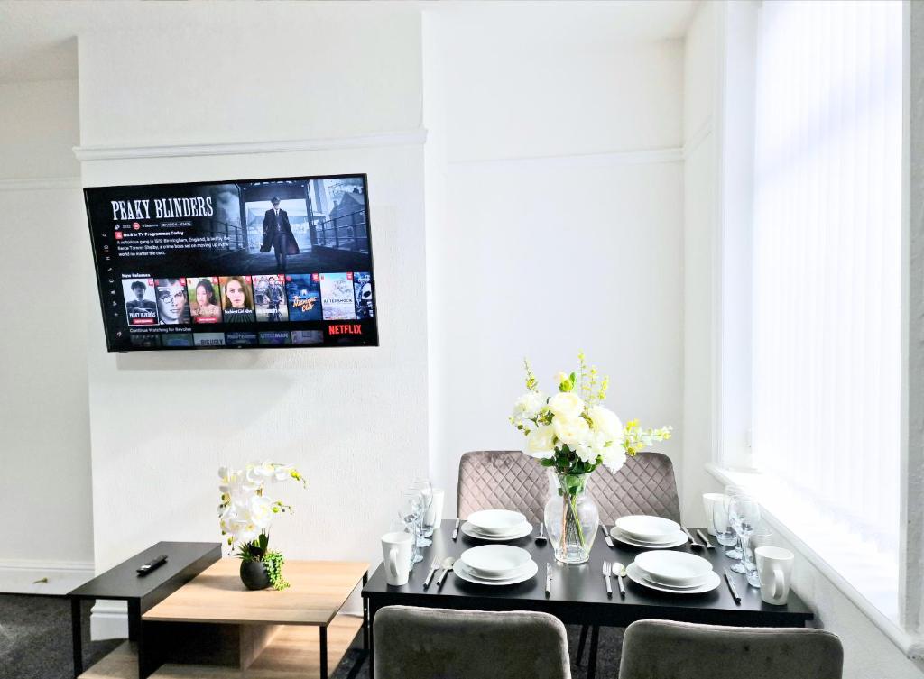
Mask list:
[[[639,620],[619,679],[841,679],[843,665],[841,640],[821,629]]]

